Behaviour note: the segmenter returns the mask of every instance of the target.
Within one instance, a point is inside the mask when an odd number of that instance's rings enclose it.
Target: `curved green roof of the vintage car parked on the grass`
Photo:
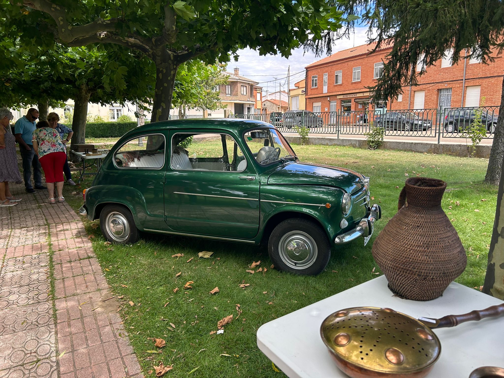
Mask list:
[[[172,119],[167,121],[158,121],[146,123],[143,126],[129,131],[127,134],[133,134],[137,131],[155,132],[169,129],[222,129],[226,131],[241,132],[251,128],[269,127],[274,128],[271,123],[243,118],[196,118],[196,119]]]

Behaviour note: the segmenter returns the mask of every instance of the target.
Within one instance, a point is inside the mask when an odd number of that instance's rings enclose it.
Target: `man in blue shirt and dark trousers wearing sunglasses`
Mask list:
[[[23,178],[25,180],[26,193],[35,193],[31,183],[32,167],[35,189],[38,191],[47,189],[42,185],[40,162],[38,161],[37,154],[35,154],[32,145],[33,132],[37,128],[35,122],[37,118],[38,110],[30,108],[26,115],[19,118],[14,125],[14,134],[16,136],[16,141],[19,143],[19,151],[23,159]]]

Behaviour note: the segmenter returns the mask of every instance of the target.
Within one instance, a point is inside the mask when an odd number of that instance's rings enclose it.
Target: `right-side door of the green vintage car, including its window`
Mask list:
[[[222,131],[171,131],[170,141],[164,191],[167,225],[179,233],[255,237],[259,178],[235,137]]]

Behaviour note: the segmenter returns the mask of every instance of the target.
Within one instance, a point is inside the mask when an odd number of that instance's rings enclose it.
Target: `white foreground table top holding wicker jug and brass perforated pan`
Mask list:
[[[320,326],[331,313],[347,307],[390,307],[414,318],[441,318],[483,309],[501,300],[452,282],[443,296],[420,302],[393,296],[385,276],[364,282],[264,324],[259,349],[290,378],[346,377],[329,355]],[[430,378],[465,378],[479,366],[504,367],[504,317],[434,329],[441,355]]]

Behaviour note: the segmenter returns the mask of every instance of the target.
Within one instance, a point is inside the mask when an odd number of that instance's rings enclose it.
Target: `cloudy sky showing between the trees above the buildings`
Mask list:
[[[353,46],[366,43],[367,28],[355,28],[355,38],[352,34],[350,39],[341,39],[333,46],[333,53]],[[354,42],[355,39],[355,42]],[[355,43],[355,44],[354,44]],[[292,51],[292,55],[287,59],[281,55],[261,56],[259,52],[251,49],[238,51],[238,61],[232,60],[228,63],[227,71],[233,72],[234,67],[240,69],[240,75],[259,82],[263,91],[274,92],[282,87],[287,89],[287,68],[290,65],[290,87],[294,83],[304,79],[304,67],[310,63],[320,60],[327,55],[315,56],[312,52],[303,52],[303,48]],[[278,79],[278,80],[275,80]]]

